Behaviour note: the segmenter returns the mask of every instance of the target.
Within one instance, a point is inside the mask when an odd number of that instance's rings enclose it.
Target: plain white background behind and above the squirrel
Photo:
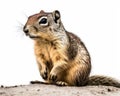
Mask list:
[[[42,80],[33,41],[22,32],[27,17],[40,10],[61,12],[66,30],[77,34],[92,58],[92,73],[120,80],[119,0],[1,0],[0,85]]]

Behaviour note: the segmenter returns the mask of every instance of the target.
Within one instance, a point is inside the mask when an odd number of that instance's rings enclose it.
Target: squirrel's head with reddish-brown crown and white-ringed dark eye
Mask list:
[[[23,31],[33,39],[52,39],[64,30],[61,23],[60,12],[55,10],[51,13],[44,12],[29,16]]]

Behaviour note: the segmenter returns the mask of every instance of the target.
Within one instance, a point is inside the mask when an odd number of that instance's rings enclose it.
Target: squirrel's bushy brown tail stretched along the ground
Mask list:
[[[105,85],[105,86],[114,86],[120,88],[120,82],[106,76],[90,76],[88,80],[88,85]]]

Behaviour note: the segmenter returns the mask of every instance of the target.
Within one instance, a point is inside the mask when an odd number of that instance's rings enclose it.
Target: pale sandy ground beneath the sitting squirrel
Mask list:
[[[111,86],[60,87],[30,84],[0,88],[0,96],[120,96],[120,88]]]

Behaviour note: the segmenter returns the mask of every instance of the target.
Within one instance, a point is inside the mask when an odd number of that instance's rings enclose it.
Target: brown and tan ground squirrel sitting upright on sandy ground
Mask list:
[[[67,32],[60,12],[44,12],[28,18],[23,31],[35,42],[40,75],[49,84],[61,86],[109,85],[120,87],[116,80],[91,76],[91,59],[84,43]]]

